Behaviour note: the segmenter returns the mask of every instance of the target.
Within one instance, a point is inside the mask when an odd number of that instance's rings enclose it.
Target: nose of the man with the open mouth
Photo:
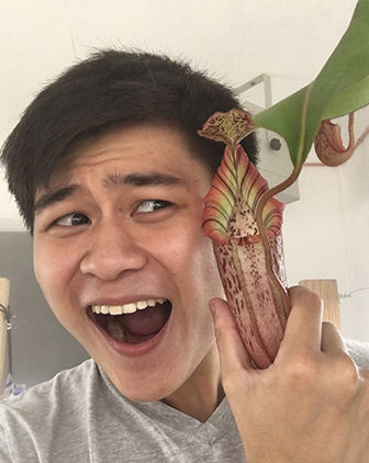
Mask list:
[[[145,267],[147,253],[133,233],[118,224],[97,226],[91,234],[88,250],[80,269],[101,280],[115,280],[122,272],[137,271]]]

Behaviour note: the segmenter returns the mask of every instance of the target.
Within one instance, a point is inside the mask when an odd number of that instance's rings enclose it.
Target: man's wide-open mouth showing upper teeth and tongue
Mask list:
[[[92,305],[89,309],[91,318],[112,338],[139,343],[161,331],[170,316],[171,303],[155,298],[125,305]]]

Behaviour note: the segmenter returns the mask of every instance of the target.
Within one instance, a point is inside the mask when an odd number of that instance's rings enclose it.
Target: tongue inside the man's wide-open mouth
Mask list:
[[[169,317],[170,308],[163,304],[126,314],[123,318],[122,328],[133,336],[149,336],[160,331]]]

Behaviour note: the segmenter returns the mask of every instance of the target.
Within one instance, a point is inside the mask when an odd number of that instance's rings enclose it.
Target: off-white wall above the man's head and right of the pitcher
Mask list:
[[[1,0],[0,144],[44,83],[93,47],[105,45],[183,56],[234,87],[267,72],[273,101],[279,101],[316,76],[355,4],[356,0]],[[337,279],[342,293],[369,285],[368,148],[367,143],[342,168],[303,170],[301,201],[287,207],[284,221],[291,284]],[[0,181],[0,228],[16,228],[9,218],[15,221],[16,212]],[[342,300],[346,336],[369,340],[368,297],[369,292],[358,292]]]

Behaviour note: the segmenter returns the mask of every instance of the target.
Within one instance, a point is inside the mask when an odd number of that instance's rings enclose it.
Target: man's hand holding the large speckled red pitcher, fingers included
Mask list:
[[[322,302],[290,291],[292,309],[275,362],[256,370],[227,304],[213,300],[222,381],[247,463],[368,463],[369,372],[338,330],[322,325]]]

